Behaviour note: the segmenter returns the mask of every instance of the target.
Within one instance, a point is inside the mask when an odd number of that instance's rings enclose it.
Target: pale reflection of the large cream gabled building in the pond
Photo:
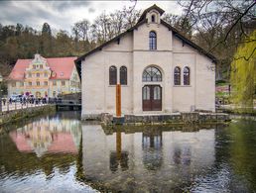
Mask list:
[[[82,125],[83,173],[113,191],[172,192],[211,167],[214,143],[214,129],[111,133]]]

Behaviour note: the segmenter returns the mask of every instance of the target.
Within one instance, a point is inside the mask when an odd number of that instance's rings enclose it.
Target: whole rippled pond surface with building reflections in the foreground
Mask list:
[[[63,112],[0,135],[0,192],[256,192],[256,122],[119,128]]]

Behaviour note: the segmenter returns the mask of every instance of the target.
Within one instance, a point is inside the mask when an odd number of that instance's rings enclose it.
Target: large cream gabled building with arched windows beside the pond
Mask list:
[[[76,59],[81,69],[82,119],[115,114],[121,84],[123,114],[215,111],[216,58],[146,9],[125,33]]]

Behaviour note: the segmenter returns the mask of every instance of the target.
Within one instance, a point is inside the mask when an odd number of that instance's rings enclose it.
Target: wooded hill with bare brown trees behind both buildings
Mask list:
[[[195,44],[218,58],[217,79],[228,79],[230,63],[239,44],[255,28],[254,1],[179,1],[181,16],[166,13],[163,19]],[[18,58],[78,56],[134,26],[142,12],[126,8],[103,12],[92,24],[83,19],[71,34],[43,24],[38,31],[26,24],[0,24],[0,72],[6,77]],[[248,39],[247,39],[248,40]],[[250,40],[256,41],[256,40]]]

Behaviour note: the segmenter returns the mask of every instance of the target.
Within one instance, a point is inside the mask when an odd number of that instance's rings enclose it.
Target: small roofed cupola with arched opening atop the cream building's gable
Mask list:
[[[148,24],[160,24],[160,17],[163,15],[164,12],[165,11],[163,9],[154,4],[142,13],[140,19],[138,20],[138,23],[147,19]]]

